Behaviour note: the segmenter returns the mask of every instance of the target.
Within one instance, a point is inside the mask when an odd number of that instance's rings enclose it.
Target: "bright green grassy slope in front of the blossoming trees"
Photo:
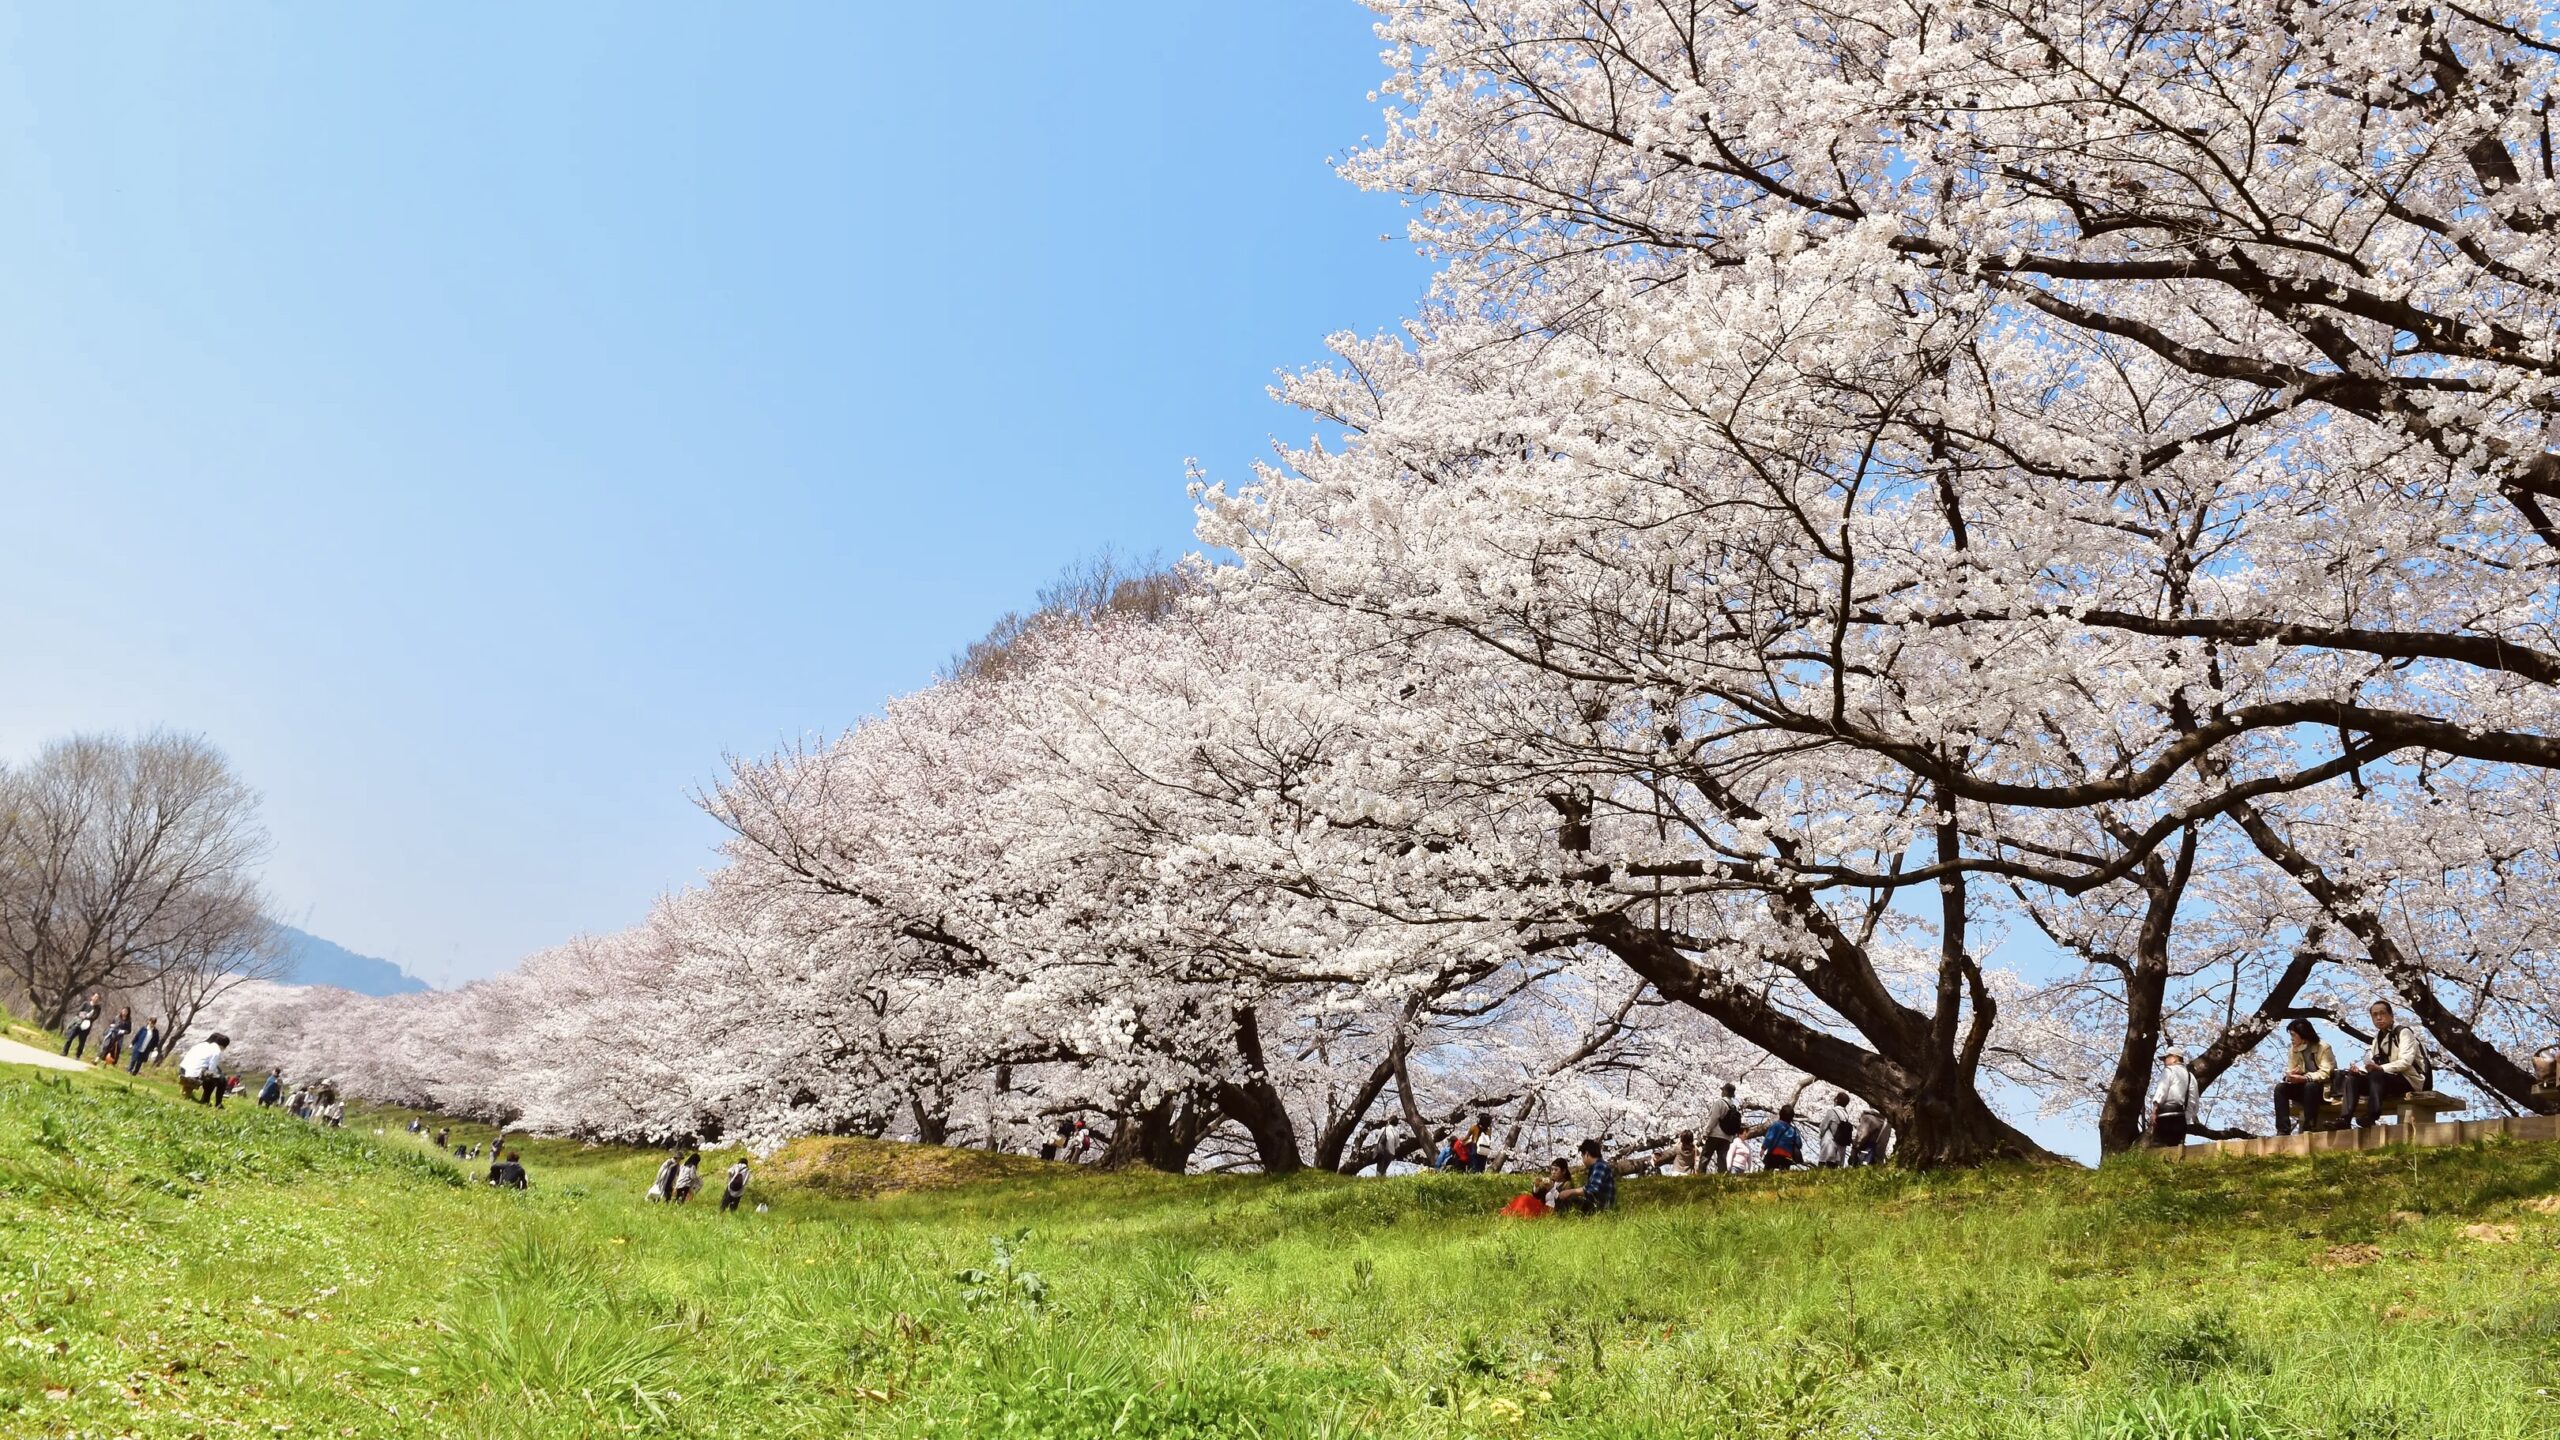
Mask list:
[[[402,1120],[0,1068],[0,1435],[2560,1432],[2550,1145],[1638,1179],[1592,1222],[1014,1163],[722,1217],[612,1148],[463,1184]]]

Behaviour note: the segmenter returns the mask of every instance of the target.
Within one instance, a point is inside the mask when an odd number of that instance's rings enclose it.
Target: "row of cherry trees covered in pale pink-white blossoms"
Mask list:
[[[1285,384],[1321,441],[1198,489],[1231,564],[735,766],[648,925],[261,997],[274,1045],[596,1133],[1083,1109],[1267,1168],[1769,1071],[1964,1163],[2035,1150],[1994,1097],[2122,1148],[2166,1043],[2237,1107],[2388,997],[2552,1107],[2550,10],[1380,33],[1347,174],[1444,269]]]

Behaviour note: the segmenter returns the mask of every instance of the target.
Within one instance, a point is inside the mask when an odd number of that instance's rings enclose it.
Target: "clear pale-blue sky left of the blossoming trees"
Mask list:
[[[284,917],[440,984],[637,920],[724,751],[1180,553],[1411,310],[1367,26],[0,8],[0,756],[210,735]]]

